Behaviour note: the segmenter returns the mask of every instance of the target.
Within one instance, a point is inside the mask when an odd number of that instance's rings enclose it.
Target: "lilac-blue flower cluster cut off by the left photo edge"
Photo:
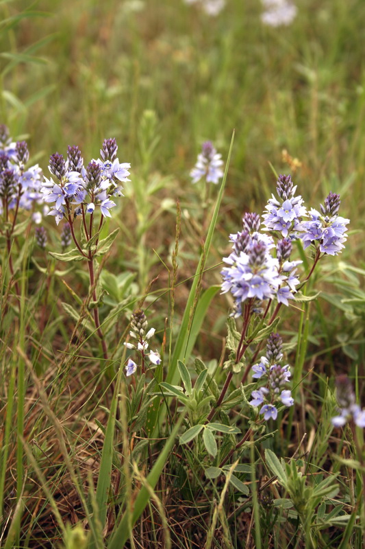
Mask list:
[[[42,170],[35,164],[27,167],[29,151],[25,141],[12,141],[7,126],[0,125],[0,213],[9,210],[34,210],[42,203]],[[42,215],[34,211],[34,220]]]

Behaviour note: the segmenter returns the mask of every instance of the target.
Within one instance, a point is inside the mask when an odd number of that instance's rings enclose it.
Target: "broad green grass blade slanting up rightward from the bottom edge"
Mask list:
[[[177,436],[177,433],[179,432],[179,428],[181,427],[181,423],[183,422],[184,417],[185,412],[180,415],[175,427],[173,428],[173,431],[171,432],[171,435],[168,437],[168,440],[164,445],[164,448],[162,449],[160,456],[158,456],[158,459],[156,460],[155,465],[153,465],[149,476],[147,476],[147,482],[152,489],[155,488],[155,485],[160,478],[162,469],[164,469],[166,460],[171,452],[171,449],[173,448],[175,438]],[[130,520],[132,526],[136,524],[138,518],[140,517],[140,515],[142,515],[144,508],[147,506],[150,498],[151,495],[147,488],[142,487],[137,495],[136,502],[134,502],[134,511]],[[114,531],[114,535],[112,536],[112,539],[108,544],[108,549],[123,549],[123,547],[125,546],[125,542],[131,534],[128,528],[128,524],[129,517],[126,511],[121,519],[121,522],[118,525],[118,528],[116,528],[116,530]]]

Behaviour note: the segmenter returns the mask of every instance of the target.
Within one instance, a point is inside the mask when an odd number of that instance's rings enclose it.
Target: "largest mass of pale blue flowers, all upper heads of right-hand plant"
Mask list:
[[[234,296],[234,316],[242,314],[242,303],[254,299],[255,309],[260,301],[276,299],[288,306],[294,299],[300,281],[297,266],[302,261],[291,261],[292,241],[301,239],[304,248],[313,244],[318,254],[336,255],[346,240],[349,220],[338,216],[340,197],[330,193],[321,206],[322,213],[307,213],[297,187],[290,176],[280,175],[277,180],[277,198],[273,195],[262,215],[264,231],[260,233],[260,216],[245,213],[243,231],[230,235],[233,252],[223,261],[222,291]],[[305,220],[312,217],[311,221]],[[275,239],[280,239],[276,241]]]

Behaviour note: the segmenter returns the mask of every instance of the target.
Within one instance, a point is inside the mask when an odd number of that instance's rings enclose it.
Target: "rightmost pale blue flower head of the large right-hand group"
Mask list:
[[[325,205],[320,205],[320,212],[310,209],[310,220],[302,223],[305,231],[301,234],[304,248],[313,244],[320,253],[328,255],[337,255],[344,248],[343,243],[347,240],[346,225],[350,220],[338,215],[340,202],[340,195],[329,193]]]

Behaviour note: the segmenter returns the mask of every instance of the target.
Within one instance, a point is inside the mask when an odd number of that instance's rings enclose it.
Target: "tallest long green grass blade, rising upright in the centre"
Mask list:
[[[170,364],[170,367],[168,369],[168,374],[167,374],[166,381],[168,383],[173,384],[173,385],[177,384],[177,381],[179,379],[179,372],[177,371],[177,361],[178,360],[183,360],[184,356],[188,356],[188,353],[186,353],[186,351],[188,350],[187,349],[187,344],[189,343],[189,349],[190,349],[194,346],[194,342],[195,342],[194,338],[190,337],[190,334],[192,334],[193,332],[192,332],[192,329],[191,329],[192,327],[190,327],[190,331],[188,329],[189,319],[190,319],[190,315],[193,312],[192,308],[194,306],[194,300],[195,300],[197,290],[198,290],[199,279],[201,278],[200,275],[201,275],[201,272],[203,271],[203,269],[205,267],[205,261],[207,259],[207,255],[208,255],[209,250],[210,250],[210,244],[212,244],[212,237],[213,237],[214,229],[216,227],[216,222],[218,220],[218,212],[219,212],[219,208],[221,207],[221,201],[222,201],[222,198],[223,198],[223,191],[225,189],[225,182],[227,180],[227,173],[228,173],[229,161],[231,159],[231,152],[232,152],[233,144],[234,144],[234,132],[232,134],[231,145],[229,146],[227,163],[225,165],[225,174],[223,176],[221,189],[219,189],[218,198],[216,199],[216,206],[214,208],[214,212],[213,212],[213,215],[212,215],[212,220],[210,222],[210,226],[209,226],[208,231],[207,231],[207,240],[205,240],[205,244],[203,246],[201,257],[199,259],[199,264],[197,266],[197,272],[195,273],[194,280],[192,282],[192,287],[191,287],[190,294],[189,294],[189,297],[188,297],[188,302],[186,303],[184,316],[183,316],[182,321],[181,321],[179,335],[177,336],[177,341],[175,343],[175,349],[174,349],[174,352],[173,352],[173,357],[171,359],[171,364]]]

